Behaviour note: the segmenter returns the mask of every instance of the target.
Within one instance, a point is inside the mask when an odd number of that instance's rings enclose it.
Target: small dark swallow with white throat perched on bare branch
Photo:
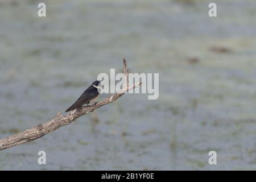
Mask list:
[[[90,85],[84,93],[81,94],[79,99],[72,105],[70,106],[65,112],[77,109],[81,107],[84,104],[92,104],[97,98],[100,96],[100,93],[98,92],[98,88],[101,88],[98,86],[100,84],[100,81],[96,80]],[[96,102],[94,102],[96,103]]]

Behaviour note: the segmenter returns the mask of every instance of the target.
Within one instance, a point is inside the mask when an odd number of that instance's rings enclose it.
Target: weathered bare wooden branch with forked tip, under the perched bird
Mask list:
[[[53,119],[50,121],[39,124],[37,126],[32,127],[31,129],[27,129],[21,133],[15,134],[10,137],[6,137],[0,139],[0,150],[5,150],[6,148],[10,148],[19,144],[31,142],[32,140],[38,139],[43,137],[44,135],[59,129],[59,127],[69,125],[70,123],[76,121],[77,118],[81,117],[82,115],[88,114],[93,112],[95,109],[98,109],[101,106],[109,104],[117,100],[121,97],[124,93],[126,93],[130,89],[134,89],[135,87],[142,84],[142,82],[138,82],[133,85],[129,85],[128,82],[128,71],[127,71],[127,64],[126,60],[123,59],[123,73],[125,74],[124,84],[122,90],[118,93],[113,94],[112,96],[105,98],[104,100],[97,102],[91,106],[82,106],[79,109],[75,109],[71,111],[68,115],[62,115],[60,111],[55,115]]]

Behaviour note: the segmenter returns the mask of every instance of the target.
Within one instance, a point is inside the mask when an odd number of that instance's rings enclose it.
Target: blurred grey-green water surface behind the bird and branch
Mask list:
[[[64,114],[123,57],[160,84],[0,151],[0,169],[255,170],[256,2],[216,0],[215,18],[210,2],[0,0],[0,138]]]

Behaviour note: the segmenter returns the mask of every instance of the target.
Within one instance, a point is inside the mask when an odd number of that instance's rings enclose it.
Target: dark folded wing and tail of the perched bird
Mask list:
[[[74,110],[78,107],[81,107],[84,104],[87,104],[90,100],[98,96],[97,89],[95,89],[93,86],[89,86],[88,89],[84,91],[84,93],[81,94],[79,99],[72,105],[70,106],[66,112]]]

